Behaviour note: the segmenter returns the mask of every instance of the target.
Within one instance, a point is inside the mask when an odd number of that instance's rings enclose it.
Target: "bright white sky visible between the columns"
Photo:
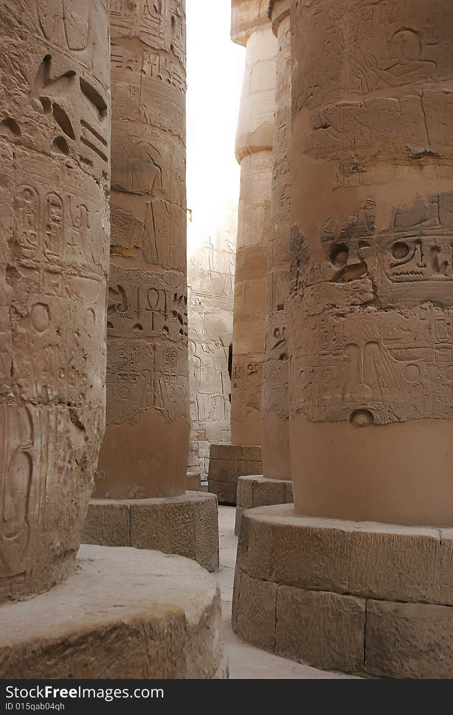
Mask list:
[[[187,0],[187,255],[239,197],[234,155],[245,49],[230,39],[231,0]]]

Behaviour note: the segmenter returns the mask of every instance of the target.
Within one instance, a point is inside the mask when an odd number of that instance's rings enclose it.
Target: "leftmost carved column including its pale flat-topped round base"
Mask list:
[[[108,2],[0,0],[0,42],[0,677],[228,677],[198,563],[79,549],[105,420]]]

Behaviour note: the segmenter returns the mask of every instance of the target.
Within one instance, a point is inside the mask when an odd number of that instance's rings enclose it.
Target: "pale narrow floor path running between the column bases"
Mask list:
[[[219,506],[220,570],[217,576],[222,593],[223,638],[230,659],[230,678],[245,679],[336,679],[353,678],[304,666],[243,643],[231,628],[231,601],[238,538],[234,535],[235,507]]]

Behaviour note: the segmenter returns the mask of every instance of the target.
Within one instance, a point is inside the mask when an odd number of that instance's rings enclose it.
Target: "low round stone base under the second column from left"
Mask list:
[[[214,494],[187,492],[161,499],[92,499],[82,543],[132,546],[219,564],[218,508]]]

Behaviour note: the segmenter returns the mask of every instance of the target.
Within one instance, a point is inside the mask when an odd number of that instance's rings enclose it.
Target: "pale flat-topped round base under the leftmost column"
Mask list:
[[[5,679],[228,678],[213,576],[180,556],[82,546],[74,576],[0,607]]]

